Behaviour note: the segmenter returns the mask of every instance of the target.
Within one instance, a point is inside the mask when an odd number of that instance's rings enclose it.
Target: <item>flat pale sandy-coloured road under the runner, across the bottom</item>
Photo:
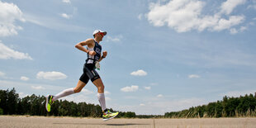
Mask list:
[[[113,119],[53,116],[0,116],[0,127],[139,127],[139,128],[256,128],[256,118]]]

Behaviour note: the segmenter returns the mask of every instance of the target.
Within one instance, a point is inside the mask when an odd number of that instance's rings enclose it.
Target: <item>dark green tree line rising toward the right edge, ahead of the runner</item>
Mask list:
[[[166,112],[169,118],[256,116],[256,92],[240,97],[223,97],[222,101],[190,107],[183,111]]]

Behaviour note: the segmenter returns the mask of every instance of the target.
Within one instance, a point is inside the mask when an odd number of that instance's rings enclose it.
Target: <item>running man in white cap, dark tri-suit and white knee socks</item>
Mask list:
[[[117,116],[118,112],[113,113],[107,110],[104,95],[104,85],[102,83],[102,79],[95,70],[100,68],[99,62],[107,56],[107,51],[102,52],[102,45],[99,45],[102,38],[106,35],[106,31],[96,30],[93,32],[94,39],[84,40],[75,45],[78,50],[82,50],[88,54],[88,59],[86,59],[86,62],[83,65],[83,74],[79,78],[78,84],[75,88],[69,88],[63,92],[59,92],[55,96],[48,95],[46,97],[45,107],[47,111],[50,111],[51,105],[60,97],[66,97],[73,93],[81,92],[83,87],[88,83],[89,79],[91,79],[92,83],[97,87],[97,99],[102,107],[103,121],[107,121]],[[85,45],[87,45],[87,49],[83,47]]]

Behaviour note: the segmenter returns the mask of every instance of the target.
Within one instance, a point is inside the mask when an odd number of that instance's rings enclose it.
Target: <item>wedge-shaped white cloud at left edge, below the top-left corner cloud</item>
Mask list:
[[[0,40],[0,59],[32,59],[27,53],[21,53],[16,50],[12,50],[6,45],[1,43]]]

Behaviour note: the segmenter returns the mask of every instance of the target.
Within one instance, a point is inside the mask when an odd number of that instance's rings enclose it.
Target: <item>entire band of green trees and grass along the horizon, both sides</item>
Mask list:
[[[113,111],[111,109],[111,111]],[[166,112],[161,115],[135,115],[132,111],[119,111],[117,118],[201,118],[201,117],[238,117],[256,116],[256,92],[240,97],[223,97],[222,101],[207,105],[190,107],[183,111]],[[31,116],[81,116],[101,117],[102,108],[86,102],[56,101],[51,111],[45,110],[45,96],[35,94],[20,98],[15,89],[0,90],[0,115]]]

